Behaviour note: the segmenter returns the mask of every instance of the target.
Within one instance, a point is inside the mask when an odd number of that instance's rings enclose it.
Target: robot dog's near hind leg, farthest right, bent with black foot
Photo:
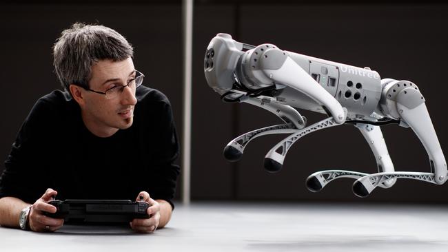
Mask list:
[[[447,162],[418,87],[409,81],[391,81],[383,88],[380,101],[385,116],[403,120],[418,136],[429,156],[431,172],[380,172],[359,178],[353,184],[356,196],[366,197],[386,180],[408,178],[442,185],[447,180]]]

